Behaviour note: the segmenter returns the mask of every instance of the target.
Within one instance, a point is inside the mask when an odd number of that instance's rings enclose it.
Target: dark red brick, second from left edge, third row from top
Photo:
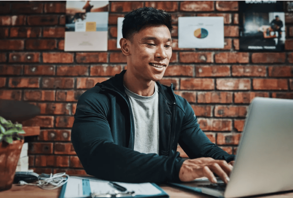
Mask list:
[[[41,36],[41,32],[38,27],[11,27],[10,37],[37,38]]]

